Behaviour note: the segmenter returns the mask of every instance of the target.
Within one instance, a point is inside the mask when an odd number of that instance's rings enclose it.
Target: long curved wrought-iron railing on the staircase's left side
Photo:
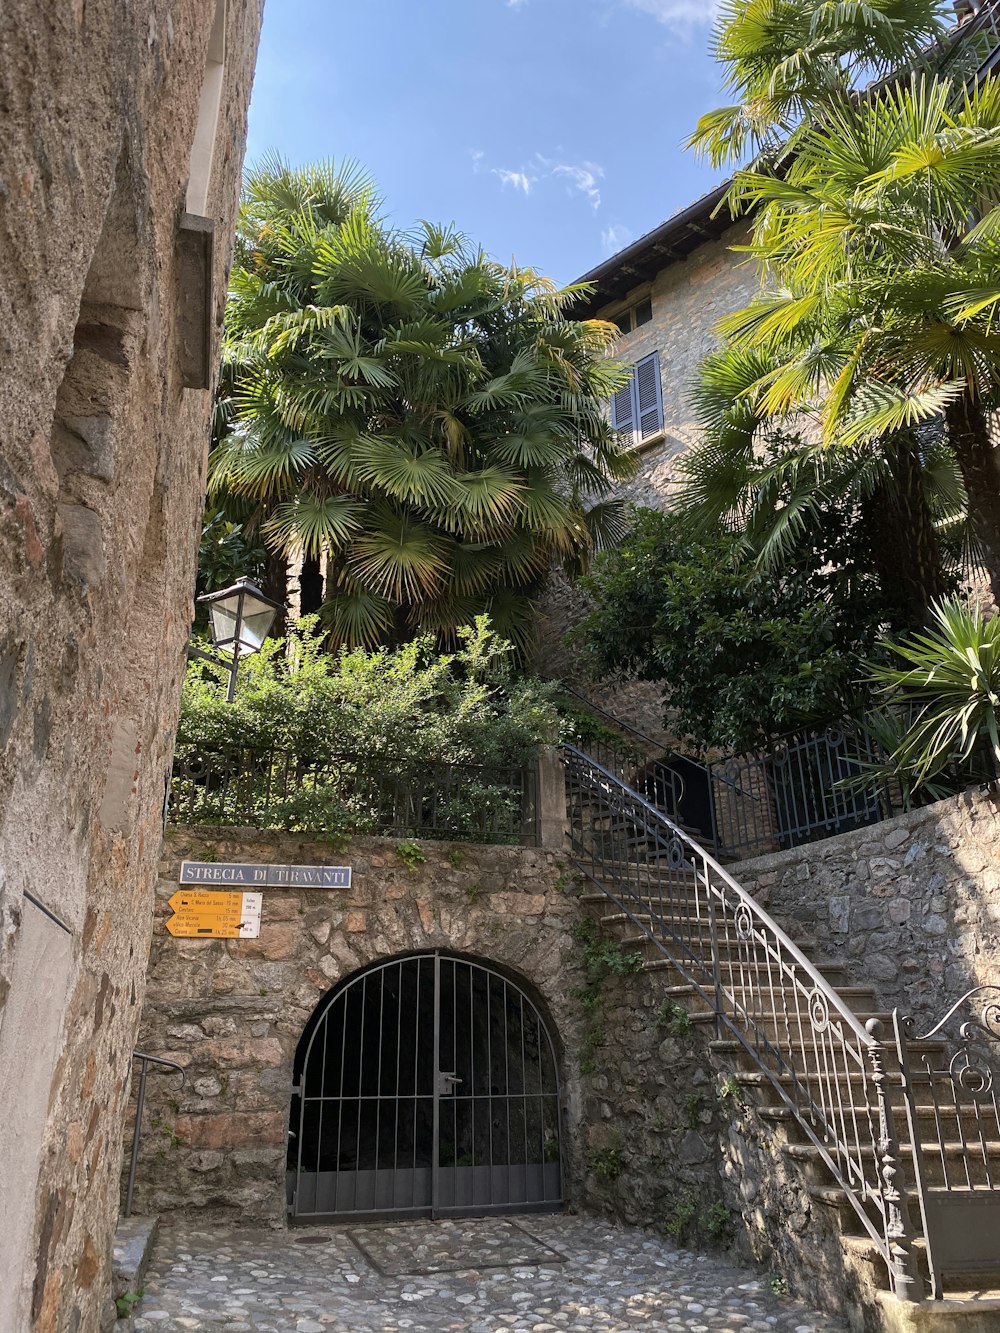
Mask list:
[[[877,1245],[896,1294],[923,1298],[879,1025],[860,1022],[683,828],[583,750],[564,745],[563,753],[577,869],[695,986],[717,1030],[768,1078]]]

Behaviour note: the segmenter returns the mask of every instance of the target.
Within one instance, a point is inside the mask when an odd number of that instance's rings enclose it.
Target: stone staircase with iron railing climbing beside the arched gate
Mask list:
[[[1000,1252],[996,1272],[976,1273],[975,1290],[968,1276],[939,1273],[947,1298],[925,1300],[933,1290],[892,1014],[843,961],[824,961],[820,973],[809,961],[819,942],[787,934],[687,830],[567,750],[571,848],[587,881],[581,901],[641,957],[657,996],[683,1006],[813,1210],[832,1221],[853,1289],[871,1293],[871,1309],[852,1322],[1000,1330]],[[928,1069],[947,1065],[945,1042],[909,1041],[905,1049],[924,1189],[941,1192],[960,1174],[1000,1209],[1000,1140],[983,1138],[976,1102],[957,1106],[943,1130],[939,1089],[921,1072],[924,1061]]]

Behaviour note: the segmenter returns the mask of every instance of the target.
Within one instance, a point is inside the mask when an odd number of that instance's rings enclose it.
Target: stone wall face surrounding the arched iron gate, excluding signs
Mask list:
[[[136,1212],[205,1209],[283,1225],[293,1061],[311,1014],[352,973],[435,949],[488,960],[541,1001],[557,1044],[572,1192],[583,1174],[584,1024],[567,962],[580,906],[564,892],[563,856],[427,841],[419,856],[400,856],[399,846],[359,837],[333,852],[297,834],[167,832],[139,1049],[175,1060],[184,1077],[149,1080]],[[167,900],[183,860],[349,865],[352,886],[265,889],[256,940],[173,938]]]

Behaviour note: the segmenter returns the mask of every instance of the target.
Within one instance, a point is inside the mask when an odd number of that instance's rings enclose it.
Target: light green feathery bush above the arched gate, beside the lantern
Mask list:
[[[307,617],[248,659],[232,704],[223,669],[192,664],[175,817],[339,840],[516,841],[520,769],[557,729],[552,686],[513,672],[509,645],[485,619],[448,656],[423,639],[331,657],[315,624]]]

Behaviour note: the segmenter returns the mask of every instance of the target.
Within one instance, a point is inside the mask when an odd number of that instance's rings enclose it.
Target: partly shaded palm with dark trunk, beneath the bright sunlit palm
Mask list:
[[[693,387],[700,443],[681,464],[688,523],[741,533],[747,556],[764,568],[825,547],[831,523],[856,527],[855,556],[867,551],[889,624],[920,624],[975,559],[944,433],[919,428],[827,447],[801,404],[792,420],[764,411],[760,385],[773,371],[768,355],[739,343],[703,361]]]

